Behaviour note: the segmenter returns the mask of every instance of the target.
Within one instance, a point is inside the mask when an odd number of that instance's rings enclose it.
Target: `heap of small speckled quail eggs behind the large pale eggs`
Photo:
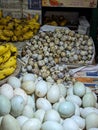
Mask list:
[[[46,80],[70,81],[67,65],[92,64],[93,55],[93,40],[87,35],[64,28],[39,32],[22,49],[22,72],[35,73]]]

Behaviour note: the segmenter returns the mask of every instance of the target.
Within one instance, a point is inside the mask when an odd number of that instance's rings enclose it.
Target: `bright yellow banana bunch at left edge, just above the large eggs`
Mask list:
[[[17,67],[17,47],[12,43],[0,45],[0,80],[14,73]]]

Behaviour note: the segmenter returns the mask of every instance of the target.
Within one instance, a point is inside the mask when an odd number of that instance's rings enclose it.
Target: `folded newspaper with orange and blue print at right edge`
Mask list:
[[[69,74],[77,81],[83,82],[85,86],[91,88],[98,94],[98,64],[87,65],[75,69],[70,69]]]

